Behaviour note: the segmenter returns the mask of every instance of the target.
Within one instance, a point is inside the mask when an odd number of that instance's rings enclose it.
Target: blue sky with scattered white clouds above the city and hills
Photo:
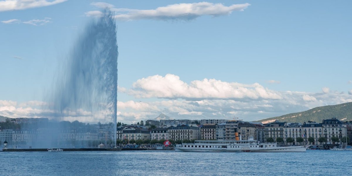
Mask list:
[[[252,121],[352,102],[351,1],[0,0],[0,115],[52,111],[64,58],[105,8],[117,121]]]

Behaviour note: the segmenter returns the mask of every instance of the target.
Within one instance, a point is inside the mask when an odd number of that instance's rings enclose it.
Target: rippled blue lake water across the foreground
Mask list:
[[[352,175],[352,151],[0,152],[1,176]]]

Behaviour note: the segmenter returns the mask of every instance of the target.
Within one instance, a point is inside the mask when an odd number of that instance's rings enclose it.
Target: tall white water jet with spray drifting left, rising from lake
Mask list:
[[[116,145],[117,124],[117,58],[115,19],[106,10],[78,38],[49,100],[56,120],[99,122],[98,137],[113,145]],[[106,126],[102,127],[100,122]],[[57,130],[64,129],[57,127]],[[58,142],[61,143],[64,142]]]

